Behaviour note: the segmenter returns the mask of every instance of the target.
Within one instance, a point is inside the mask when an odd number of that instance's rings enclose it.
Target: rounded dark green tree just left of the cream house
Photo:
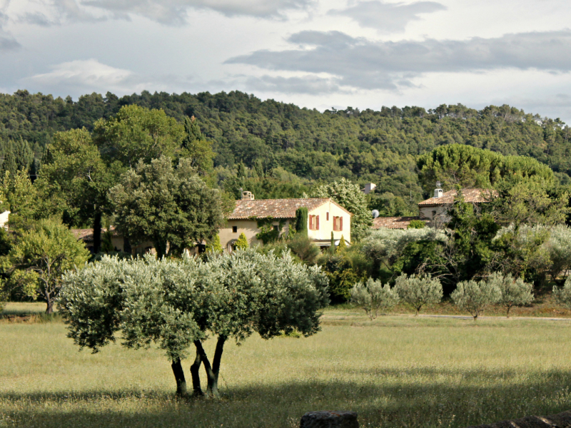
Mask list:
[[[151,240],[159,255],[181,254],[195,243],[212,240],[223,223],[218,190],[196,175],[188,159],[178,167],[166,156],[139,161],[109,191],[116,225],[129,239]]]

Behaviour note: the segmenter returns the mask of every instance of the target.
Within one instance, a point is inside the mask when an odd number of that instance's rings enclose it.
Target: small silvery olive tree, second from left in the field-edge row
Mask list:
[[[430,275],[400,275],[395,282],[395,291],[403,302],[412,305],[416,315],[424,305],[442,300],[442,284]]]

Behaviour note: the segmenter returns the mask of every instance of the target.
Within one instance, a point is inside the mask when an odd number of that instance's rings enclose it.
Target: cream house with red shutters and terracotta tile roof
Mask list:
[[[298,208],[308,209],[308,238],[315,245],[329,247],[332,232],[335,245],[341,236],[350,244],[353,214],[330,198],[255,200],[250,192],[243,192],[242,199],[236,200],[228,223],[218,233],[220,243],[225,251],[231,252],[241,233],[246,235],[249,245],[263,243],[257,238],[262,228],[278,229],[280,235],[288,235]]]

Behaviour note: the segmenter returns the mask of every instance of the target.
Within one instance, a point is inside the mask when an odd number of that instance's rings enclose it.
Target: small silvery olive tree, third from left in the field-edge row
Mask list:
[[[450,297],[455,305],[470,312],[475,320],[485,307],[500,301],[502,292],[500,287],[491,282],[470,280],[458,282]]]

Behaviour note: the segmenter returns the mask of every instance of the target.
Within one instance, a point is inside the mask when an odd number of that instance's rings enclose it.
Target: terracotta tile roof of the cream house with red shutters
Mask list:
[[[328,202],[333,201],[329,198],[236,200],[236,208],[228,220],[251,217],[295,218],[295,210],[298,208],[305,207],[311,211]]]

